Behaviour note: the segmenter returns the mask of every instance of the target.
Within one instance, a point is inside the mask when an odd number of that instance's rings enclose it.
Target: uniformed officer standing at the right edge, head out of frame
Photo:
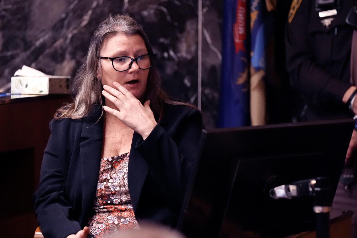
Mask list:
[[[292,86],[303,95],[300,121],[352,118],[357,114],[356,86],[351,80],[354,27],[346,17],[353,0],[293,0],[286,30],[287,70]],[[356,39],[357,40],[357,39]],[[351,149],[357,147],[354,130]],[[345,191],[340,181],[333,209],[354,210],[352,233],[357,237],[357,186]]]

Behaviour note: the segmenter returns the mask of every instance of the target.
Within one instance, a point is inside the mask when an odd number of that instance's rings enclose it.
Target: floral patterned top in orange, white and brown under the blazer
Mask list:
[[[105,237],[121,229],[139,229],[128,189],[129,154],[101,159],[95,215],[88,222],[92,237]]]

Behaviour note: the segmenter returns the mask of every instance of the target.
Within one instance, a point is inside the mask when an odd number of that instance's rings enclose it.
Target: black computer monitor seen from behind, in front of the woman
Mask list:
[[[354,121],[215,129],[203,133],[178,228],[187,237],[284,236],[314,229],[313,198],[274,200],[271,188],[328,177],[335,194]]]

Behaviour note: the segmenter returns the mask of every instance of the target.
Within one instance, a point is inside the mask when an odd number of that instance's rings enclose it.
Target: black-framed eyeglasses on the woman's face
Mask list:
[[[156,54],[147,54],[140,55],[135,59],[129,56],[99,57],[99,59],[111,60],[114,70],[122,72],[129,70],[134,61],[139,66],[139,69],[147,70],[154,64],[155,57]]]

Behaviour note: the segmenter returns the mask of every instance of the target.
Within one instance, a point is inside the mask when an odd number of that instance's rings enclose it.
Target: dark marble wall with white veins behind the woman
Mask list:
[[[75,76],[97,25],[128,13],[149,36],[173,97],[197,105],[197,0],[3,0],[0,2],[0,87],[22,65]],[[202,1],[202,111],[215,125],[221,64],[223,0]]]

